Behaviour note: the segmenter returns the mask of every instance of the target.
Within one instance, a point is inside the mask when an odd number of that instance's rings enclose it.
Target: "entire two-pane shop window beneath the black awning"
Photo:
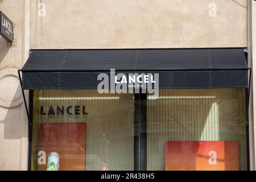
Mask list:
[[[246,170],[245,89],[145,95],[34,90],[31,169]]]

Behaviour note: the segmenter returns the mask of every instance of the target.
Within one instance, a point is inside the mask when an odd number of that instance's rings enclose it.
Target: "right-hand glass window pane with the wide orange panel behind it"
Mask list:
[[[245,170],[244,98],[244,89],[160,89],[158,98],[148,96],[147,169]]]

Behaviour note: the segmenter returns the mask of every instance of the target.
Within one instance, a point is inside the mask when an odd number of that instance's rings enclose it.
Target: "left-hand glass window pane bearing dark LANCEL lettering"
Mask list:
[[[34,90],[32,170],[133,170],[133,152],[133,94]]]

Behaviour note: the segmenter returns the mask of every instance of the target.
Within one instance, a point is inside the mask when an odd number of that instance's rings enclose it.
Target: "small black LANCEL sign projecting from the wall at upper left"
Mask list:
[[[0,11],[0,35],[9,42],[14,40],[13,22]]]

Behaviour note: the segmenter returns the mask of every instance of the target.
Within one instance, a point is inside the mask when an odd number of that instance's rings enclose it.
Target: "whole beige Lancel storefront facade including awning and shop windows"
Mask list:
[[[45,170],[57,152],[60,169],[255,170],[255,1],[7,0],[0,11],[14,23],[14,41],[0,37],[0,169]],[[102,93],[110,68],[128,86],[129,73],[159,74],[158,95]]]

